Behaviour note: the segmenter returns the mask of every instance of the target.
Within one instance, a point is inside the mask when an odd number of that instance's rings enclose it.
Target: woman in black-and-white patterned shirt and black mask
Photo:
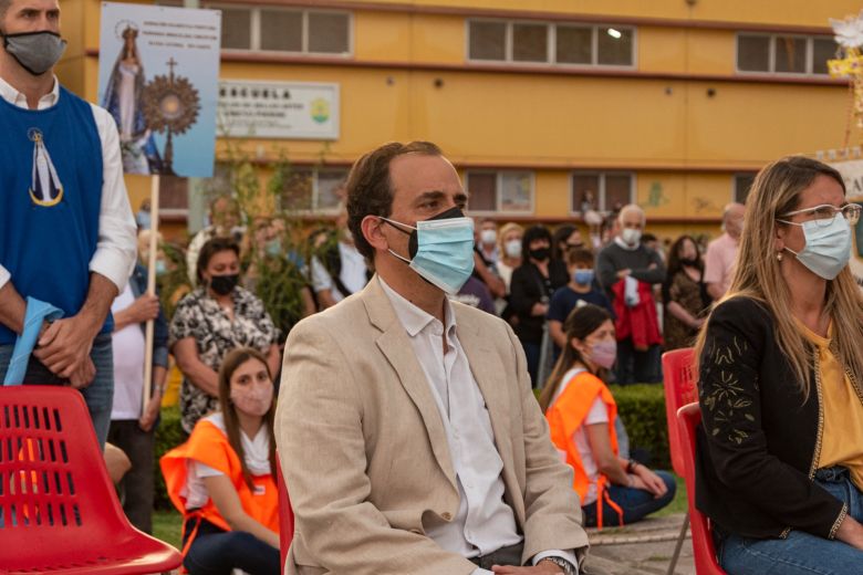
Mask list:
[[[170,349],[184,374],[180,389],[183,429],[219,408],[218,372],[222,358],[237,347],[267,356],[270,373],[279,373],[278,330],[263,303],[240,288],[240,249],[216,238],[200,250],[198,288],[180,300],[170,323]]]

